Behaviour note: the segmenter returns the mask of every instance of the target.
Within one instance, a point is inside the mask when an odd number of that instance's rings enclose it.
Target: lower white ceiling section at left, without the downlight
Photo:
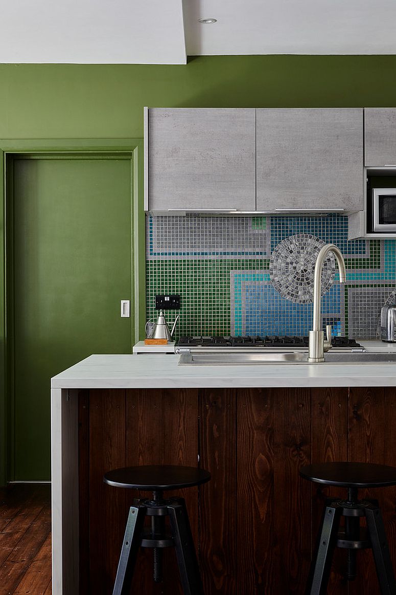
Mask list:
[[[2,2],[0,62],[186,64],[181,0]]]

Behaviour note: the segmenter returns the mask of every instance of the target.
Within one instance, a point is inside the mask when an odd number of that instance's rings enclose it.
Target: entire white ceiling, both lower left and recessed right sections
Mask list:
[[[217,22],[198,22],[209,17]],[[14,0],[2,6],[0,62],[186,64],[187,55],[396,54],[395,22],[395,0]]]

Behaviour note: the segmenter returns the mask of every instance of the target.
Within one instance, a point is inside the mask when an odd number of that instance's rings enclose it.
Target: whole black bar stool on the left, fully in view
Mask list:
[[[197,557],[183,498],[164,499],[166,490],[199,486],[210,480],[210,473],[195,467],[174,465],[142,465],[113,469],[103,481],[109,486],[150,490],[152,499],[134,499],[129,509],[124,541],[121,547],[113,595],[129,595],[139,547],[152,547],[153,579],[162,580],[162,548],[175,547],[185,595],[202,595]],[[151,516],[151,528],[144,529],[144,518]],[[171,534],[165,533],[165,517],[169,516]]]

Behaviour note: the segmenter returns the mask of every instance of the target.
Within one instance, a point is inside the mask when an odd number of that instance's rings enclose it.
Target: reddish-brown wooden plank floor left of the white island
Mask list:
[[[0,488],[0,595],[51,595],[51,486]]]

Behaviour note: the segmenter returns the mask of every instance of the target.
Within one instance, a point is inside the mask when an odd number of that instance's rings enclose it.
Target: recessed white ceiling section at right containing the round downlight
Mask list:
[[[185,21],[188,55],[396,54],[395,0],[186,0]]]

